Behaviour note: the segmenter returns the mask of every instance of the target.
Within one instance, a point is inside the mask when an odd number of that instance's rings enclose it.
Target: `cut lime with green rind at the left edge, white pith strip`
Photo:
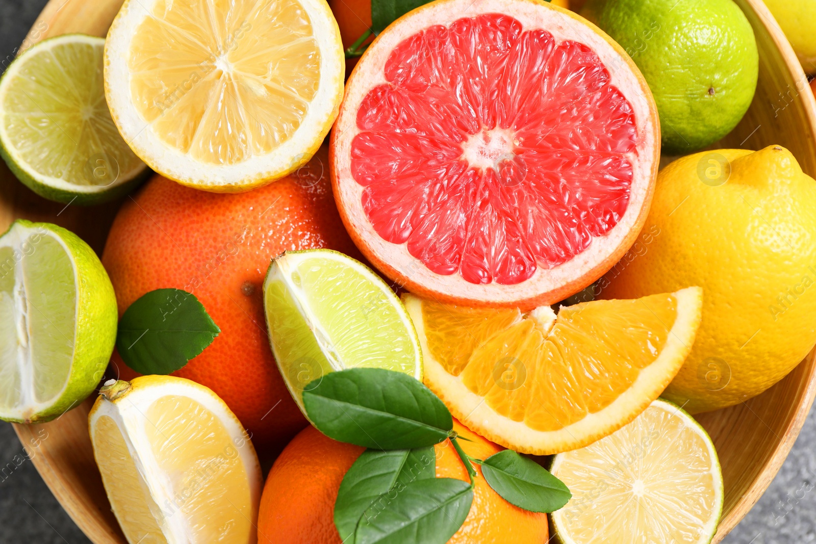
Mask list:
[[[18,219],[0,237],[0,419],[43,422],[91,394],[116,339],[107,272],[76,234]]]

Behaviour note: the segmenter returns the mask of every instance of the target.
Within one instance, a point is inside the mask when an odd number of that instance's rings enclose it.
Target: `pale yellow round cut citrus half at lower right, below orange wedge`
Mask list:
[[[716,533],[723,486],[714,444],[666,400],[594,444],[558,453],[551,471],[572,492],[552,514],[562,544],[707,544]]]

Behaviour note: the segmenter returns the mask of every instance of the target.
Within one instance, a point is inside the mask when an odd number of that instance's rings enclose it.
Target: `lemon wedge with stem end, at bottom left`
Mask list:
[[[91,443],[128,542],[257,541],[258,457],[223,400],[173,376],[111,380],[100,392]]]

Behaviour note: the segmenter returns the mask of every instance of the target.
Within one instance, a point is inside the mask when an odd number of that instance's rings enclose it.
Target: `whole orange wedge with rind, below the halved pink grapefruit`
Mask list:
[[[528,314],[405,295],[424,377],[451,414],[522,453],[583,447],[636,418],[694,343],[703,290]]]

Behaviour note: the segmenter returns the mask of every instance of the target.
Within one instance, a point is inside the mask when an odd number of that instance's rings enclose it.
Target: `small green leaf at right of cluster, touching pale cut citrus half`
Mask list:
[[[512,449],[504,449],[482,461],[481,474],[505,501],[532,512],[557,511],[572,498],[570,489],[561,480]]]

